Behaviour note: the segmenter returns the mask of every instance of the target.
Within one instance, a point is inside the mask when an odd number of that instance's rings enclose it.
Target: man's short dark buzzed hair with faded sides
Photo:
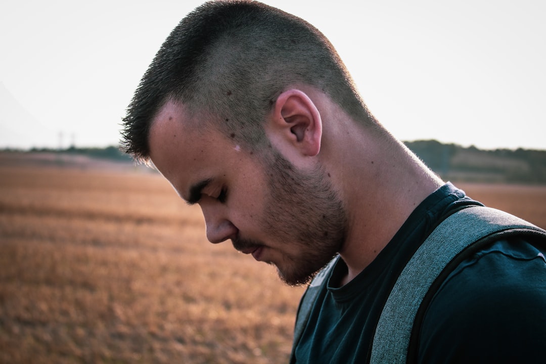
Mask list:
[[[206,112],[242,145],[263,146],[265,116],[279,94],[301,83],[378,126],[318,29],[258,2],[207,2],[174,28],[144,74],[123,118],[122,150],[149,161],[151,122],[169,100],[185,104],[195,123],[204,123],[197,113]]]

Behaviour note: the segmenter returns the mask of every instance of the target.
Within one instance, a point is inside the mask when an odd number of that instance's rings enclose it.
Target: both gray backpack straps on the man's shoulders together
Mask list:
[[[464,229],[461,227],[464,226]],[[370,363],[405,363],[416,355],[423,314],[438,287],[463,260],[486,244],[518,236],[546,243],[546,231],[506,212],[483,206],[456,211],[444,219],[403,268],[383,307],[371,347]],[[298,308],[290,362],[311,308],[339,255],[313,279]],[[412,339],[413,338],[413,339]]]

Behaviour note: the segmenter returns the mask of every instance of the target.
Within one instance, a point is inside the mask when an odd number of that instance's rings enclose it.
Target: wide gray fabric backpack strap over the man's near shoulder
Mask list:
[[[443,268],[472,243],[511,229],[544,233],[525,220],[482,206],[465,208],[443,220],[397,279],[379,318],[370,363],[405,363],[417,311]]]

